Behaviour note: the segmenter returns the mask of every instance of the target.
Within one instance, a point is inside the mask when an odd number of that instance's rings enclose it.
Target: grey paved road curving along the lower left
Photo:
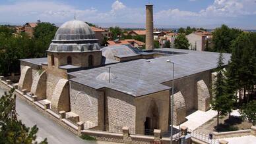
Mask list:
[[[0,88],[0,95],[3,95],[4,91],[4,89]],[[26,126],[30,128],[34,125],[38,126],[39,130],[37,133],[37,141],[42,141],[45,137],[47,137],[50,144],[100,143],[94,141],[84,141],[83,139],[80,139],[80,137],[59,126],[53,122],[53,120],[47,118],[38,110],[36,110],[36,108],[31,107],[24,101],[20,100],[18,97],[16,98],[16,112],[18,114],[18,119],[22,120],[22,123]]]

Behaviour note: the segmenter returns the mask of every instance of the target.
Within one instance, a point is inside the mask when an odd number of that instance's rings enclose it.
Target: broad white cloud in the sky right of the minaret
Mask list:
[[[212,5],[198,12],[180,11],[179,9],[158,11],[155,19],[166,24],[196,26],[229,23],[231,20],[234,23],[234,18],[250,16],[255,14],[253,12],[255,12],[253,0],[214,0]]]

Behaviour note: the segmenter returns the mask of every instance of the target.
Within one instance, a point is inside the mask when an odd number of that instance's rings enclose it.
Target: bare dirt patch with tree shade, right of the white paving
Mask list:
[[[214,117],[199,128],[196,129],[197,132],[202,133],[212,133],[212,132],[229,132],[235,130],[246,130],[251,128],[252,124],[247,120],[242,120],[239,116],[231,116],[228,120],[228,116],[220,116],[220,124],[217,125],[217,117]]]

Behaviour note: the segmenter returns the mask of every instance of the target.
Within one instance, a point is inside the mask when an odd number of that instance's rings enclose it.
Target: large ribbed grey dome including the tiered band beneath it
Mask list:
[[[100,45],[95,34],[83,21],[65,22],[57,30],[48,51],[51,52],[86,52],[99,51]]]

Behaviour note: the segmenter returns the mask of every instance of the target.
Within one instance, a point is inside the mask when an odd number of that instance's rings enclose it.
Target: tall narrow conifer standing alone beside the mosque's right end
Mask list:
[[[216,68],[216,81],[213,85],[213,92],[214,95],[212,96],[211,107],[213,110],[216,110],[217,113],[217,126],[219,124],[219,116],[226,115],[230,111],[230,102],[228,96],[226,94],[226,85],[225,85],[225,78],[224,78],[224,57],[222,53],[220,53],[218,57],[218,67]]]

